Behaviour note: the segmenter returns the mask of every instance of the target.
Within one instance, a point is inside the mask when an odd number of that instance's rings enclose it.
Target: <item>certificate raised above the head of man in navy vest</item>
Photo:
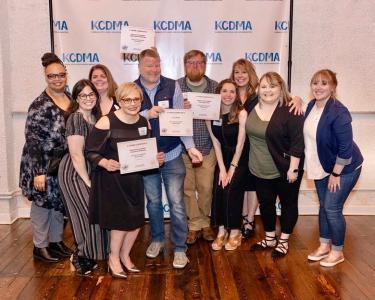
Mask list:
[[[121,53],[139,54],[155,47],[155,32],[149,28],[127,26],[121,30]]]

